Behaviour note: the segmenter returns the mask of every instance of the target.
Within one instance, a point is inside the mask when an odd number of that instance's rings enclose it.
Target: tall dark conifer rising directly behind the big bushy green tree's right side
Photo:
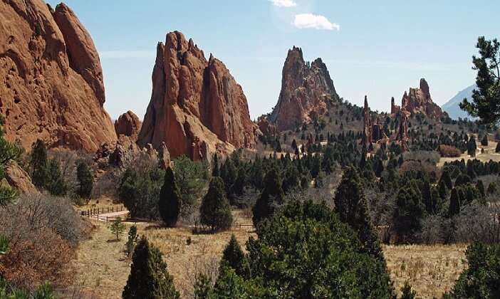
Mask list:
[[[377,234],[370,221],[368,207],[358,173],[353,167],[345,169],[342,181],[335,193],[335,211],[340,221],[349,224],[358,233],[364,250],[381,260],[384,259]]]

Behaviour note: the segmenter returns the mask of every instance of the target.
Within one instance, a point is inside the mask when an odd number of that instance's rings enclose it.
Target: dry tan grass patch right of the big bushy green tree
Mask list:
[[[419,298],[441,298],[464,267],[466,245],[383,246],[387,268],[400,295],[408,281]]]

